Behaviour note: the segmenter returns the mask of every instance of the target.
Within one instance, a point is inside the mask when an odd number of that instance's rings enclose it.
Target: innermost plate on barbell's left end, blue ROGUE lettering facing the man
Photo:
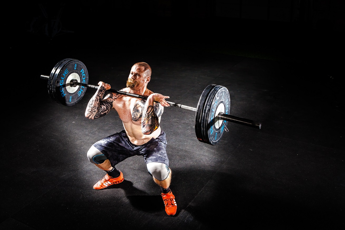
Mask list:
[[[71,80],[87,84],[89,80],[86,66],[79,60],[67,59],[57,67],[52,78],[51,93],[61,105],[71,106],[78,103],[86,92],[85,86],[70,86]]]

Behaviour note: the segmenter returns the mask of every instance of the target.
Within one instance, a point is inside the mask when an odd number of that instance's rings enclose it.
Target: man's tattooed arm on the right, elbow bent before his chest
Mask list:
[[[141,117],[141,132],[145,135],[153,133],[159,126],[159,117],[163,113],[163,106],[170,106],[165,98],[158,93],[152,93],[148,96]],[[154,103],[157,101],[159,103]]]

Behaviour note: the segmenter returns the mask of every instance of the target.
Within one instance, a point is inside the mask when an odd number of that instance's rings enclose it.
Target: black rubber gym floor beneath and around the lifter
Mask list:
[[[241,26],[227,38],[200,26],[170,27],[139,40],[137,28],[122,39],[104,30],[87,38],[9,39],[2,66],[0,229],[344,229],[343,62],[331,55],[338,43],[315,50],[310,37],[278,39],[283,29],[277,35],[269,26],[252,32]],[[229,132],[209,145],[196,138],[195,112],[165,108],[160,126],[173,172],[174,217],[166,215],[141,157],[117,165],[124,182],[93,190],[105,172],[86,153],[123,125],[115,111],[96,120],[84,116],[91,88],[73,106],[51,100],[40,75],[65,58],[87,66],[89,84],[104,81],[116,90],[135,62],[147,62],[148,88],[191,107],[207,85],[225,86],[230,114],[262,128],[229,122]]]

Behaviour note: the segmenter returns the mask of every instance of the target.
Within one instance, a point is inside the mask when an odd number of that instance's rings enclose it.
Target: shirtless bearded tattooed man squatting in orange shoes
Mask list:
[[[166,153],[167,141],[159,126],[164,106],[169,106],[165,98],[169,97],[146,88],[151,80],[151,72],[147,63],[135,63],[130,70],[127,87],[121,90],[147,96],[147,100],[117,93],[109,93],[103,98],[110,85],[98,83],[99,87],[86,107],[85,116],[96,119],[114,108],[125,129],[93,144],[87,157],[91,163],[107,173],[93,186],[93,189],[101,190],[124,180],[122,172],[115,168],[118,163],[128,157],[143,156],[149,174],[160,186],[166,213],[174,216],[177,205],[169,188],[171,169]]]

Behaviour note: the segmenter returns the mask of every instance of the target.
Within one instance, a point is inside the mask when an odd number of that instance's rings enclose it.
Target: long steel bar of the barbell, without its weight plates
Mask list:
[[[49,76],[42,74],[41,75],[41,79],[49,80]],[[71,86],[73,86],[73,85],[80,85],[80,86],[84,86],[84,87],[98,89],[97,85],[89,85],[89,84],[77,82],[76,80],[72,80],[70,82],[70,85]],[[109,89],[107,91],[112,92],[112,93],[118,93],[118,94],[122,94],[122,95],[127,95],[127,96],[132,96],[132,97],[137,97],[137,98],[141,98],[141,99],[147,100],[146,96],[139,95],[139,94],[127,93],[127,92],[124,92],[124,91],[113,90],[113,89]],[[159,102],[157,102],[157,103],[159,103]],[[176,104],[176,103],[173,103],[173,102],[168,102],[168,103],[171,106],[187,109],[187,110],[194,111],[194,112],[196,112],[196,110],[197,110],[194,107],[190,107],[190,106],[186,106],[186,105]],[[254,128],[258,128],[258,129],[261,128],[261,124],[257,124],[257,123],[255,123],[252,120],[249,120],[249,119],[246,119],[246,118],[242,118],[242,117],[236,117],[236,116],[225,114],[225,113],[222,113],[222,112],[218,114],[218,119],[219,120],[233,122],[233,123],[237,123],[237,124],[241,124],[241,125],[246,125],[246,126],[250,126],[250,127],[254,127]]]

